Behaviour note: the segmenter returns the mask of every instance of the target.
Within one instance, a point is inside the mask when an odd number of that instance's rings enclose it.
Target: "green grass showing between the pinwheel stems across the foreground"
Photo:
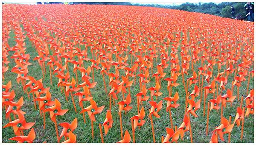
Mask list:
[[[9,39],[9,45],[10,45],[10,47],[12,47],[15,45],[14,33],[11,32],[9,36],[11,37]],[[30,65],[28,67],[28,70],[29,70],[28,75],[33,76],[35,79],[38,80],[43,77],[42,73],[41,73],[40,65],[38,64],[37,61],[33,61],[33,59],[36,56],[38,56],[38,54],[36,53],[35,48],[32,47],[31,42],[29,41],[28,38],[26,38],[25,42],[26,42],[26,47],[27,47],[26,53],[30,54],[29,62],[32,63],[32,65]],[[24,105],[21,109],[24,112],[26,112],[25,118],[26,118],[27,122],[35,122],[35,125],[33,126],[33,128],[35,129],[36,138],[35,138],[34,142],[44,142],[44,141],[46,141],[47,143],[57,142],[54,123],[50,120],[49,114],[47,113],[47,115],[46,115],[46,129],[44,129],[43,128],[43,117],[40,116],[39,110],[35,110],[32,98],[29,99],[27,97],[26,93],[23,92],[22,85],[17,84],[17,81],[16,81],[17,75],[10,71],[11,68],[16,65],[14,60],[10,59],[10,56],[12,56],[13,53],[14,52],[10,52],[10,55],[8,56],[8,59],[9,59],[9,61],[11,61],[11,63],[9,63],[8,72],[6,72],[4,74],[5,80],[3,81],[3,84],[7,84],[8,81],[12,81],[12,89],[14,89],[15,95],[16,95],[14,101],[19,100],[19,98],[21,96],[24,97]],[[178,55],[180,57],[179,52],[178,52]],[[90,51],[88,51],[88,57],[89,58],[91,57]],[[77,58],[76,58],[76,60],[77,60]],[[115,60],[115,57],[113,57],[113,60]],[[156,66],[156,64],[159,64],[159,63],[160,63],[160,59],[158,58],[157,62],[154,62],[154,67]],[[91,64],[90,61],[88,61],[88,62],[84,61],[85,68],[90,66],[90,64]],[[128,59],[128,64],[130,64],[128,67],[131,67],[130,59]],[[195,64],[194,70],[196,72],[198,72],[198,67],[200,67],[200,66],[201,66],[201,64],[198,64],[198,63]],[[76,75],[71,70],[73,68],[73,65],[69,64],[68,67],[70,70],[71,78],[72,77],[75,78]],[[167,73],[166,77],[170,77],[170,71],[167,71],[169,69],[170,69],[170,66],[165,70],[165,72]],[[224,68],[222,70],[224,70]],[[251,68],[251,70],[252,70],[252,68]],[[102,113],[96,114],[96,123],[94,123],[94,135],[95,135],[94,139],[92,139],[92,136],[91,136],[91,124],[90,124],[90,120],[89,120],[87,113],[86,113],[86,123],[85,124],[83,122],[82,114],[79,114],[79,112],[81,111],[81,108],[78,105],[78,98],[74,97],[75,102],[76,102],[76,107],[78,110],[78,113],[75,113],[71,97],[69,97],[69,101],[67,102],[65,100],[64,94],[61,93],[60,88],[57,87],[58,78],[53,76],[52,77],[53,84],[51,85],[50,81],[49,81],[49,67],[48,66],[46,67],[46,71],[47,71],[47,74],[45,75],[45,78],[43,79],[44,87],[45,88],[50,87],[49,91],[52,94],[52,100],[54,100],[54,98],[58,98],[58,100],[61,102],[62,109],[69,109],[69,111],[64,116],[57,117],[57,122],[58,123],[62,123],[62,122],[71,123],[73,121],[73,119],[75,117],[77,117],[78,118],[78,127],[74,131],[74,134],[77,135],[77,142],[80,142],[80,143],[82,143],[82,142],[101,142],[98,122],[103,122],[105,120],[106,110],[109,109],[109,98],[108,98],[108,94],[106,94],[104,91],[102,75],[99,73],[99,70],[94,71],[95,81],[97,82],[97,85],[95,86],[95,88],[93,88],[91,90],[91,93],[93,95],[93,100],[96,101],[97,105],[98,106],[105,105],[105,108]],[[154,68],[153,72],[156,72],[156,71],[157,71],[156,68]],[[217,73],[218,73],[217,71],[218,71],[218,69],[217,69],[217,66],[215,65],[215,72],[213,72],[213,74],[217,75]],[[112,73],[115,72],[114,67],[111,68],[111,72]],[[119,73],[120,73],[120,76],[125,75],[123,70],[119,71]],[[189,78],[192,76],[191,70],[189,70],[188,73],[189,73],[189,75],[185,75],[185,80],[186,80],[186,78]],[[137,74],[138,74],[138,71],[137,71]],[[150,75],[151,75],[151,71],[150,71]],[[233,75],[234,74],[230,75],[228,84],[226,85],[226,89],[231,88],[231,82],[232,82],[231,79],[233,78]],[[81,78],[80,72],[78,72],[78,78]],[[109,81],[109,78],[106,75],[105,75],[105,80],[106,80],[106,82]],[[135,97],[135,95],[138,92],[140,92],[138,80],[139,79],[137,78],[137,80],[136,80],[137,83],[131,87],[131,99],[132,99],[131,106],[133,108],[126,115],[124,112],[122,112],[123,133],[125,132],[125,130],[128,130],[131,137],[132,137],[132,131],[131,131],[130,118],[134,115],[137,115],[137,98]],[[174,95],[175,92],[179,93],[180,99],[178,100],[177,103],[180,104],[180,106],[177,109],[172,109],[172,119],[173,119],[173,123],[177,124],[177,126],[179,126],[183,122],[184,107],[185,107],[185,91],[184,91],[184,87],[182,84],[181,75],[178,77],[177,83],[179,83],[180,85],[172,88],[172,94]],[[250,80],[250,89],[253,88],[253,83],[254,83],[254,80],[252,78]],[[81,84],[81,79],[79,79],[79,84]],[[146,88],[149,88],[154,85],[155,85],[154,78],[151,78],[151,82],[146,85]],[[167,81],[162,81],[161,85],[162,85],[162,88],[160,89],[160,92],[163,92],[163,95],[158,97],[158,99],[156,100],[157,103],[160,100],[162,100],[163,98],[168,97],[168,90],[166,89]],[[204,86],[206,86],[206,85],[207,85],[207,83],[205,81]],[[247,81],[242,82],[242,85],[241,85],[240,91],[239,91],[240,95],[246,95],[245,94],[246,87],[247,87]],[[194,88],[194,85],[189,87],[189,91],[192,91],[193,88]],[[110,86],[108,86],[108,90],[109,89],[111,89]],[[224,93],[225,93],[225,91],[223,92],[223,94]],[[234,87],[233,94],[236,95],[236,86]],[[148,91],[148,95],[150,95],[149,91]],[[200,99],[199,97],[197,97],[195,100],[197,101],[198,99]],[[122,100],[122,93],[118,94],[118,98],[119,98],[118,100],[115,100],[116,103]],[[211,99],[211,98],[212,98],[212,95],[209,95],[207,99]],[[240,96],[240,98],[241,98],[241,96]],[[230,114],[236,115],[236,107],[239,106],[239,103],[240,103],[240,100],[236,99],[233,102],[232,107],[230,107],[230,104],[228,104],[227,108],[224,108],[224,117],[226,117],[228,119]],[[89,105],[90,105],[90,102],[84,103],[84,107],[89,106]],[[136,142],[153,142],[152,133],[151,133],[151,124],[150,124],[150,120],[148,117],[148,114],[149,114],[148,109],[151,106],[148,102],[143,102],[143,106],[145,108],[146,116],[145,116],[144,120],[146,122],[140,129],[136,128],[135,140],[136,140]],[[111,109],[114,122],[113,122],[113,127],[109,130],[108,134],[106,136],[104,136],[104,141],[106,143],[113,143],[113,142],[117,142],[117,141],[121,140],[118,109],[119,109],[118,105],[113,106]],[[170,120],[169,120],[169,114],[168,114],[168,112],[166,112],[166,100],[163,100],[163,109],[160,110],[159,114],[161,116],[160,118],[153,117],[156,142],[161,142],[161,134],[166,134],[166,127],[169,127],[169,128],[171,127]],[[206,119],[206,116],[205,117],[203,116],[203,101],[201,102],[201,108],[196,112],[196,114],[198,114],[198,116],[199,116],[198,118],[195,118],[193,116],[191,117],[193,142],[209,142],[211,135],[212,135],[211,132],[215,129],[215,126],[219,125],[221,122],[220,121],[221,120],[221,118],[220,118],[221,110],[219,110],[219,111],[212,110],[212,112],[210,112],[209,134],[207,136],[205,134],[207,119]],[[2,117],[3,117],[3,120],[2,120],[3,125],[5,125],[6,123],[8,123],[9,120],[5,119],[4,112],[2,114]],[[233,119],[232,119],[232,121],[233,121]],[[233,128],[233,131],[231,133],[231,142],[236,142],[236,143],[253,142],[253,140],[254,140],[254,135],[253,135],[254,134],[254,122],[253,121],[254,121],[253,115],[250,115],[250,117],[245,118],[243,140],[240,139],[241,125],[239,127],[237,127],[235,125]],[[62,130],[61,126],[58,126],[59,133],[61,132],[61,130]],[[29,131],[24,131],[24,134],[28,134],[28,132]],[[9,138],[14,137],[14,136],[15,135],[14,135],[13,129],[11,127],[3,128],[2,142],[5,142],[5,143],[14,142],[14,141],[9,140]],[[227,134],[224,135],[224,138],[225,138],[225,141],[227,142]],[[64,141],[64,137],[61,139],[61,142],[63,142],[63,141]],[[132,142],[132,140],[131,140],[131,142]],[[178,142],[188,142],[189,143],[190,142],[189,132],[186,132],[184,135],[184,139],[183,140],[179,139]],[[220,139],[219,139],[219,142],[221,142]]]

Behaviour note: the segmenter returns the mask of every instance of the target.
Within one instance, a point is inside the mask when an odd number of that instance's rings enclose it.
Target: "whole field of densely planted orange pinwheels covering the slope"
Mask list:
[[[126,143],[140,140],[136,131],[150,126],[144,135],[151,142],[200,142],[199,132],[211,137],[207,142],[230,142],[236,128],[243,139],[250,130],[245,118],[254,116],[253,33],[252,22],[162,8],[3,5],[2,121],[9,122],[3,132],[13,128],[10,140],[35,142],[49,127],[55,142],[74,143],[82,142],[75,134],[80,128],[83,138]],[[29,73],[30,65],[41,75]],[[6,74],[17,76],[23,96]],[[104,95],[95,96],[97,89]],[[24,100],[40,113],[42,126],[26,122]],[[73,106],[64,108],[68,102]],[[81,119],[58,119],[67,113]],[[159,125],[161,117],[167,119]],[[206,120],[201,131],[195,132],[195,118]],[[155,134],[160,128],[162,139]],[[118,135],[108,141],[111,130]]]

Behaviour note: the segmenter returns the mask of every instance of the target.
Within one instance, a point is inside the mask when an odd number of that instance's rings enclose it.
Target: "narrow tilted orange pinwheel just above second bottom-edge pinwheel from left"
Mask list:
[[[72,123],[60,123],[60,126],[63,127],[62,131],[61,131],[61,135],[58,138],[59,140],[61,139],[61,137],[65,136],[66,137],[70,137],[70,133],[73,132],[76,127],[77,127],[77,118],[75,118]]]

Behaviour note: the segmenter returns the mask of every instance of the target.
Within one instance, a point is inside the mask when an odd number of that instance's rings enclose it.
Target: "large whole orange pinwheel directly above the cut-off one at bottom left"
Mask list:
[[[23,114],[18,112],[18,119],[13,120],[12,122],[7,123],[6,125],[3,126],[3,128],[6,127],[13,127],[14,133],[17,136],[20,136],[20,132],[23,134],[23,130],[28,130],[31,128],[35,123],[26,123],[25,117]]]

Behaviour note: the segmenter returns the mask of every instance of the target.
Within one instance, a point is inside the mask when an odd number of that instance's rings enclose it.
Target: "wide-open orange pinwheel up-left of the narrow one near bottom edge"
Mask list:
[[[58,115],[62,116],[65,113],[67,113],[67,111],[68,111],[68,109],[61,109],[61,103],[58,101],[58,99],[55,98],[54,106],[44,109],[43,112],[49,112],[51,120],[53,122],[56,122],[56,116],[58,116]]]

